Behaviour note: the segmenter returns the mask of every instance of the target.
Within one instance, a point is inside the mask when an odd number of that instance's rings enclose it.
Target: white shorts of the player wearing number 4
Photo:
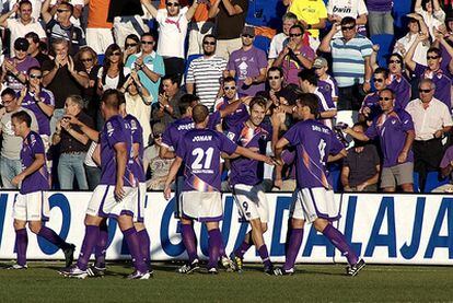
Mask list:
[[[298,189],[293,196],[290,217],[313,222],[316,219],[336,221],[340,218],[334,190],[324,187]]]

